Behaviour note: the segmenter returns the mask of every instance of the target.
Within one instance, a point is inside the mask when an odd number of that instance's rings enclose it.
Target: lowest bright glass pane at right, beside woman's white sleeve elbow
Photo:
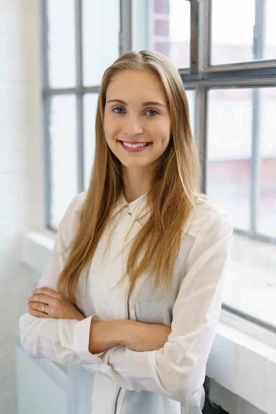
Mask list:
[[[275,268],[276,244],[234,233],[225,268],[224,304],[276,326]]]

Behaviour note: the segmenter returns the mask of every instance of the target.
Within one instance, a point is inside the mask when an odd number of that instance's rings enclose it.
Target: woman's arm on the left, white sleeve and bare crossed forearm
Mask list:
[[[49,299],[57,297],[57,279],[66,264],[66,247],[75,231],[77,204],[81,197],[82,194],[77,195],[71,201],[59,224],[52,254],[37,286],[43,289],[36,289],[30,298],[30,312],[20,317],[19,328],[21,345],[30,357],[47,358],[65,365],[90,364],[90,369],[97,371],[99,364],[103,364],[99,356],[107,349],[125,344],[125,337],[135,338],[132,346],[136,346],[137,351],[157,349],[166,342],[170,329],[168,331],[168,327],[163,325],[150,325],[148,328],[147,324],[128,319],[101,321],[98,315],[83,317],[75,312],[68,300],[55,301],[57,315],[50,317],[41,313],[40,303],[46,303],[47,298],[50,304]],[[59,315],[64,315],[64,318]]]

